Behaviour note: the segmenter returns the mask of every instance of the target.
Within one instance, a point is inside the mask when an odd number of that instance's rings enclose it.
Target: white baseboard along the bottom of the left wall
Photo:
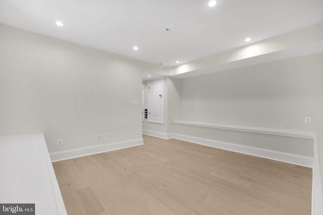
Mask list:
[[[83,157],[83,156],[93,155],[93,154],[98,154],[103,152],[125,149],[129,147],[135,147],[139,145],[143,145],[142,138],[131,139],[131,140],[126,140],[121,142],[114,142],[113,144],[109,144],[109,145],[97,145],[92,147],[84,147],[79,149],[54,152],[54,153],[49,153],[49,156],[50,156],[51,162],[55,162],[55,161],[62,161],[66,159],[78,158],[78,157]]]

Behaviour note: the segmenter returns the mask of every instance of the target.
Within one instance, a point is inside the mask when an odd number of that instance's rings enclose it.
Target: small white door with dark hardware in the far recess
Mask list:
[[[164,122],[164,81],[148,82],[148,121]]]

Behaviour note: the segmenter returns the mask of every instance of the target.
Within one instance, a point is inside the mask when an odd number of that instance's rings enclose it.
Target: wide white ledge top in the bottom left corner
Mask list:
[[[1,203],[35,203],[35,214],[67,215],[42,133],[0,136],[0,171]]]

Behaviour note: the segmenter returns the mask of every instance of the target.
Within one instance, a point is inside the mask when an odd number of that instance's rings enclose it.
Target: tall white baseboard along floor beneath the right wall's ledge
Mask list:
[[[243,146],[239,144],[231,144],[230,142],[204,139],[200,137],[188,136],[188,135],[183,135],[178,133],[174,135],[174,138],[188,141],[188,142],[193,142],[194,144],[199,144],[203,146],[243,153],[247,155],[253,155],[261,158],[282,161],[282,162],[296,164],[296,165],[310,167],[310,168],[313,167],[313,158],[311,157],[277,152],[277,151],[266,150],[266,149],[261,149],[256,147]]]

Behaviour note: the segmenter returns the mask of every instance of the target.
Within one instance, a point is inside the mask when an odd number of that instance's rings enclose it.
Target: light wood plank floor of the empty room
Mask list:
[[[312,170],[144,135],[143,146],[53,163],[72,214],[310,214]]]

